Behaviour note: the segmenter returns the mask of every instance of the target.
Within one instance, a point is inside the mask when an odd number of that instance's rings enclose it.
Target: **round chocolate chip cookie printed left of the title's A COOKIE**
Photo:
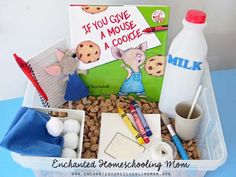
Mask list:
[[[83,63],[98,61],[101,55],[100,47],[92,41],[83,41],[76,48],[76,55]]]

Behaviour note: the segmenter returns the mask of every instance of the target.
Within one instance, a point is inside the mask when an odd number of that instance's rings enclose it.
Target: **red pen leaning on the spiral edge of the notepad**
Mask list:
[[[38,84],[37,80],[35,79],[35,77],[32,74],[31,69],[29,68],[29,66],[27,65],[27,63],[20,58],[19,56],[17,56],[15,53],[13,54],[17,64],[19,65],[19,67],[21,68],[21,70],[25,73],[25,75],[28,77],[28,79],[32,82],[32,84],[35,86],[35,88],[38,90],[38,92],[40,93],[40,95],[46,100],[48,101],[48,97],[46,95],[46,93],[43,91],[42,87],[40,87],[40,85]]]

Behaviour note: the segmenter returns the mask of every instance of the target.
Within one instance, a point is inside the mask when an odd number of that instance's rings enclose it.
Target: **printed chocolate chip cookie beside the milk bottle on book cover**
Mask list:
[[[162,76],[165,69],[165,57],[164,56],[154,56],[149,58],[145,64],[145,70],[149,75],[152,76]]]

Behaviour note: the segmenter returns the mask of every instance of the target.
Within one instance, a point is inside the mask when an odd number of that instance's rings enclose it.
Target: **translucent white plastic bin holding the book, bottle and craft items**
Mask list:
[[[204,86],[203,92],[199,99],[200,105],[204,110],[204,117],[200,128],[200,134],[197,137],[198,147],[201,150],[201,160],[188,160],[188,161],[175,161],[175,163],[187,162],[190,164],[189,168],[162,168],[160,176],[170,177],[203,177],[207,171],[216,170],[221,166],[227,158],[227,150],[224,142],[223,132],[219,119],[219,114],[216,106],[214,91],[211,84],[209,67],[207,66],[202,78],[202,84]],[[34,95],[33,99],[32,95]],[[39,106],[40,102],[31,84],[28,85],[24,105],[27,106]],[[157,175],[155,169],[140,170],[128,169],[100,169],[95,168],[93,171],[86,168],[60,168],[55,169],[52,167],[52,161],[55,158],[50,157],[26,157],[19,154],[12,153],[13,159],[25,168],[31,168],[35,175],[38,177],[69,177],[69,176],[108,176],[110,172],[127,172],[129,176],[152,176]],[[68,162],[69,159],[59,158],[60,162]],[[73,159],[73,162],[92,161],[84,159]],[[98,160],[95,160],[98,162]],[[75,173],[74,173],[75,172]],[[86,172],[86,173],[84,173]],[[94,172],[94,173],[93,173]],[[131,173],[130,172],[134,172]],[[135,172],[140,172],[135,174]],[[149,174],[148,174],[149,173]],[[123,174],[124,175],[124,174]],[[116,176],[110,174],[110,176]]]

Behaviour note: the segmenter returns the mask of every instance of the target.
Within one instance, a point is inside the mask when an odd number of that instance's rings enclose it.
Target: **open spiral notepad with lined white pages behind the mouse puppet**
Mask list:
[[[59,76],[50,76],[45,72],[45,68],[57,62],[55,51],[60,49],[62,51],[68,49],[65,40],[61,40],[46,50],[40,52],[38,55],[31,58],[27,64],[30,67],[32,74],[34,75],[38,84],[43,88],[44,92],[48,96],[46,101],[40,94],[40,100],[44,107],[59,107],[65,103],[64,92],[65,85],[60,83],[65,76],[60,74]]]

